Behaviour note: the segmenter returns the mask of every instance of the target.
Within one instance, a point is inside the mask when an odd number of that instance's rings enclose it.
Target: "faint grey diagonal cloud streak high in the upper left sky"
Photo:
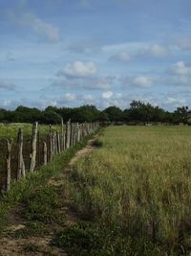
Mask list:
[[[40,36],[46,41],[58,42],[61,39],[59,28],[30,12],[18,15],[11,12],[11,19],[19,25],[30,28],[35,35]]]

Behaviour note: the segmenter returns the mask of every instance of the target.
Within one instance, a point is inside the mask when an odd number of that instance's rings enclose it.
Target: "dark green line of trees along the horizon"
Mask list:
[[[19,105],[14,110],[0,108],[1,123],[33,123],[38,121],[41,124],[60,124],[60,118],[66,123],[69,119],[72,122],[96,122],[101,123],[150,123],[161,122],[169,124],[191,124],[191,111],[188,106],[178,107],[170,112],[159,106],[140,101],[133,101],[129,108],[124,110],[113,105],[98,110],[95,105],[82,105],[79,107],[56,107],[47,106],[44,110],[36,107]]]

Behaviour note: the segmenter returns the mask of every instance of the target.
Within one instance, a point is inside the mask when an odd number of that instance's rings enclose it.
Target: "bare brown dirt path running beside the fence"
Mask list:
[[[84,149],[77,151],[74,157],[71,159],[68,167],[63,170],[59,177],[51,178],[49,180],[49,184],[52,184],[55,187],[61,186],[63,184],[63,179],[66,178],[66,175],[70,174],[77,160],[96,149],[96,147],[94,147],[95,140],[96,138],[89,140],[87,146]],[[70,207],[70,205],[71,201],[66,201],[64,203],[64,207],[60,209],[61,214],[65,216],[65,226],[73,225],[79,221],[79,216],[74,211],[74,209]],[[53,232],[50,232],[49,235],[19,238],[12,237],[12,235],[10,235],[18,230],[25,228],[25,222],[19,218],[19,208],[16,210],[16,212],[11,213],[9,222],[9,226],[5,231],[5,236],[0,239],[0,256],[67,256],[67,253],[63,250],[50,245],[50,242],[53,239],[53,235],[55,234],[54,226]],[[57,227],[58,230],[59,228],[62,227]]]

